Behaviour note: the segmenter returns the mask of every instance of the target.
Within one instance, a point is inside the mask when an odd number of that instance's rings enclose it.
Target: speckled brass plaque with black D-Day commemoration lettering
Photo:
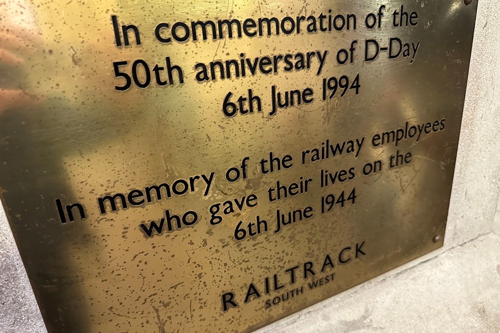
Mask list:
[[[0,4],[49,332],[249,332],[442,246],[477,1]]]

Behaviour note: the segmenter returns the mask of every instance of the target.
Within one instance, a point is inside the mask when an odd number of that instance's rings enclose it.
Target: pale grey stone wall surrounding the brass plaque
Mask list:
[[[497,8],[479,3],[444,247],[260,333],[500,330]],[[45,332],[1,207],[0,283],[0,332]]]

